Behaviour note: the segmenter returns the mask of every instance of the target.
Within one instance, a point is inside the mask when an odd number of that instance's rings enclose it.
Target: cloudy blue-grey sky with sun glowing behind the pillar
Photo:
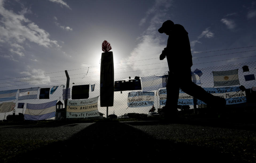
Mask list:
[[[256,1],[0,0],[0,91],[65,84],[65,70],[70,83],[99,80],[104,40],[115,79],[165,73],[166,20],[187,30],[191,69],[256,59]]]

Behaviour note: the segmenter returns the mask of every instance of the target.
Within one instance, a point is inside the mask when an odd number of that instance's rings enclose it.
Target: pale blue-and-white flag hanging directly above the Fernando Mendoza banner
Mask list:
[[[141,77],[141,85],[143,92],[158,90],[162,88],[162,76]]]

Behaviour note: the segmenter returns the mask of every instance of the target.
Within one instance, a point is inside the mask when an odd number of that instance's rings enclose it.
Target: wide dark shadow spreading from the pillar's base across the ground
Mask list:
[[[125,123],[94,123],[70,139],[19,154],[8,162],[231,162],[229,154],[158,140]]]

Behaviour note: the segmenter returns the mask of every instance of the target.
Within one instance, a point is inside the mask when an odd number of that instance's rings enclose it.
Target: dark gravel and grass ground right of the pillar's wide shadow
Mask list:
[[[125,123],[157,140],[169,140],[179,145],[204,147],[217,153],[223,153],[224,157],[229,157],[227,162],[256,162],[256,125],[254,123],[216,121],[216,119],[180,121],[180,123],[172,124],[162,122]],[[216,155],[216,158],[218,157],[222,156]],[[216,161],[219,162],[218,159]]]

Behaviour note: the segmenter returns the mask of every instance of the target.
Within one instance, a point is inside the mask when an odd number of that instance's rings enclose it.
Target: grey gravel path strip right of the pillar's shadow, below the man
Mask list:
[[[148,125],[148,124],[145,125],[145,123],[147,122],[145,122],[144,124],[143,122],[126,122],[126,123],[149,135],[152,135],[156,139],[194,140],[194,139],[213,139],[213,138],[216,138],[216,139],[256,138],[256,132],[254,130],[248,131],[248,130],[242,130],[242,129],[234,129],[234,128],[237,128],[235,124],[232,125],[233,128],[222,128],[222,127],[209,127],[209,126],[175,124],[175,123],[163,125],[157,122],[152,122],[151,125]],[[254,128],[251,128],[251,129],[254,129]]]

